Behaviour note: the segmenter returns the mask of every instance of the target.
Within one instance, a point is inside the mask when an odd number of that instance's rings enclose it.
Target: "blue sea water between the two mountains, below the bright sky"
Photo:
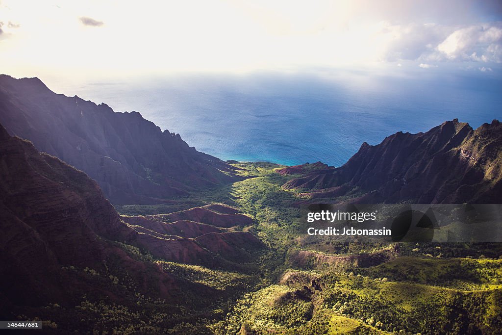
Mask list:
[[[363,142],[425,132],[458,118],[501,119],[502,80],[458,74],[184,75],[88,83],[77,94],[139,111],[221,159],[343,165]],[[66,92],[65,92],[66,93]]]

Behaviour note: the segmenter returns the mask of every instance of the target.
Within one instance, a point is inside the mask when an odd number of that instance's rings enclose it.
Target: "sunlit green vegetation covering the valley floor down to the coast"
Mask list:
[[[122,214],[156,214],[226,203],[253,217],[247,230],[266,248],[240,267],[208,269],[155,259],[113,242],[133,258],[161,267],[178,283],[173,299],[139,293],[112,265],[106,271],[65,269],[95,287],[75,288],[74,306],[54,301],[21,318],[54,331],[181,334],[465,334],[502,329],[502,247],[496,244],[359,244],[305,236],[300,206],[309,201],[281,188],[289,178],[270,163],[236,163],[244,180],[172,203],[120,206]],[[323,199],[326,200],[326,199]],[[327,199],[335,201],[336,199]],[[302,263],[299,252],[309,255]],[[367,265],[367,255],[388,258]],[[238,269],[238,270],[235,270]],[[99,295],[106,288],[122,303]]]

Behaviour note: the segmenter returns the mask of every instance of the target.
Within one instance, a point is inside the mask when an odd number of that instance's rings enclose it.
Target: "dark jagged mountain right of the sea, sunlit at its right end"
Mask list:
[[[502,125],[473,130],[458,120],[426,133],[396,133],[363,143],[340,168],[322,163],[286,167],[300,174],[283,185],[314,198],[350,195],[351,202],[499,203],[502,199]]]

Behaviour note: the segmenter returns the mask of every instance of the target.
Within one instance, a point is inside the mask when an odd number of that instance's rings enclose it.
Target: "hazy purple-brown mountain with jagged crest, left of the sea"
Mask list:
[[[139,113],[56,94],[38,78],[0,75],[0,123],[10,135],[86,172],[116,204],[162,203],[238,180],[234,167]]]

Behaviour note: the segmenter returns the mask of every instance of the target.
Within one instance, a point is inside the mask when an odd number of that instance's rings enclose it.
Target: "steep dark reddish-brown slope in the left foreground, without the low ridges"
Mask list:
[[[16,304],[66,301],[71,288],[92,290],[68,278],[63,266],[127,271],[143,292],[171,296],[176,285],[154,264],[132,259],[111,240],[137,233],[120,221],[95,181],[0,125],[0,300]],[[5,270],[5,271],[4,271]],[[102,296],[111,296],[106,290]],[[113,298],[119,301],[118,298]]]

